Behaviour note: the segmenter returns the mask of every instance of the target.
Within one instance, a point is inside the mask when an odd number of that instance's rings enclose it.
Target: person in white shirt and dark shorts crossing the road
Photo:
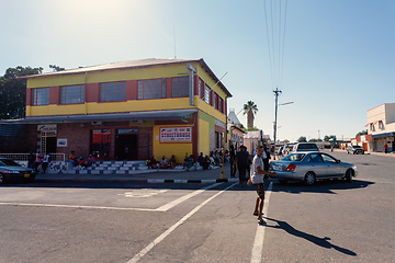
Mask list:
[[[257,148],[257,155],[253,157],[253,160],[252,160],[251,174],[250,174],[250,178],[247,183],[248,185],[251,185],[251,183],[252,183],[258,193],[253,215],[258,216],[259,225],[264,224],[263,218],[262,218],[263,201],[264,201],[263,175],[264,174],[276,175],[275,172],[266,172],[264,171],[262,155],[263,155],[263,146],[259,146]]]

